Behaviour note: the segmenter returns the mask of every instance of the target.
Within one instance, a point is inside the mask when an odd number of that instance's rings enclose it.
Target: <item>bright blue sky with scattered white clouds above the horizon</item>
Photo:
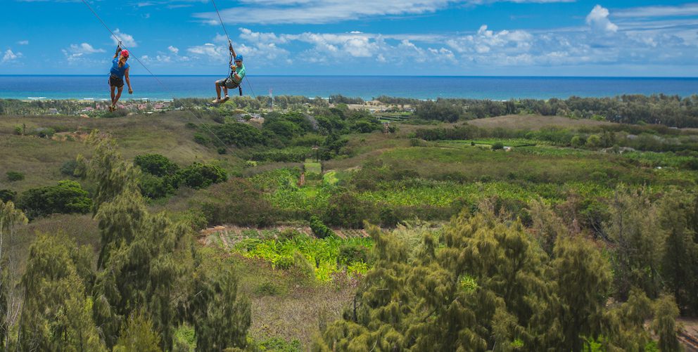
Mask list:
[[[227,72],[210,0],[89,3],[152,72]],[[698,77],[697,2],[216,4],[248,74]],[[106,74],[115,50],[81,0],[3,0],[0,33],[0,74]]]

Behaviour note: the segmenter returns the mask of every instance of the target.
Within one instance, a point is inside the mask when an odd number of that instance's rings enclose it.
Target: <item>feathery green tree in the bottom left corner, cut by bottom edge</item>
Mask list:
[[[91,300],[65,235],[39,235],[22,278],[26,292],[19,345],[24,351],[105,351]]]

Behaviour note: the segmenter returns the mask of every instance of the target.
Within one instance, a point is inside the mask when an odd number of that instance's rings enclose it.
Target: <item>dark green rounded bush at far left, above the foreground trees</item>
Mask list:
[[[77,181],[59,181],[58,185],[32,188],[22,193],[17,203],[30,219],[54,213],[87,214],[92,207],[87,191]]]

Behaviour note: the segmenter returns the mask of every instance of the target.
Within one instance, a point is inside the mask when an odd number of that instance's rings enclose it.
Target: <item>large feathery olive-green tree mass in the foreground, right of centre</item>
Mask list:
[[[600,332],[610,272],[583,240],[559,241],[552,259],[491,213],[460,216],[419,247],[369,232],[374,268],[316,351],[581,351],[581,335]]]

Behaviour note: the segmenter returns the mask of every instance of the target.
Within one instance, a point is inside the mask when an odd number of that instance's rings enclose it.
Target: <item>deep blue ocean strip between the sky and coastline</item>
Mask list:
[[[215,76],[132,76],[134,94],[123,98],[170,100],[215,96]],[[159,80],[159,82],[158,82]],[[378,96],[404,98],[511,98],[602,97],[622,94],[691,96],[698,94],[698,78],[616,77],[405,77],[405,76],[248,76],[248,96],[308,96],[334,94],[370,100]],[[237,94],[237,90],[231,94]],[[0,75],[0,98],[27,100],[109,98],[107,76]]]

